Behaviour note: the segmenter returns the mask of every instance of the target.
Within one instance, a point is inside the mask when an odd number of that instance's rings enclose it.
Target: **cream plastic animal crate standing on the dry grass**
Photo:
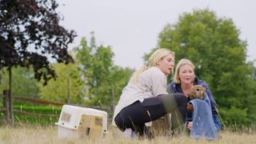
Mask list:
[[[107,113],[81,106],[64,105],[55,123],[58,138],[102,138],[107,133]]]

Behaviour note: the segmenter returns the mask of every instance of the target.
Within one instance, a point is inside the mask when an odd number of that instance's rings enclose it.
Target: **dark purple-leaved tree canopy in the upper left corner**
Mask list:
[[[59,26],[57,7],[54,0],[0,1],[0,70],[31,65],[34,77],[46,84],[56,77],[49,58],[73,62],[67,46],[75,34]]]

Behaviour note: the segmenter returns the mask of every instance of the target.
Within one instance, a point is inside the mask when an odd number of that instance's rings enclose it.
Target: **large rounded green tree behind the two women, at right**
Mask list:
[[[253,112],[247,109],[255,108],[255,81],[253,65],[246,62],[246,41],[239,34],[230,18],[218,18],[208,9],[194,10],[182,14],[176,24],[167,24],[158,46],[173,50],[177,62],[181,58],[194,62],[195,73],[209,84],[224,120],[239,117],[240,124],[248,124],[256,120],[250,119]]]

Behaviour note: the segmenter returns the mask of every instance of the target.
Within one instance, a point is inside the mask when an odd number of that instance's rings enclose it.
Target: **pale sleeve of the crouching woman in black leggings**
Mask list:
[[[152,94],[158,96],[159,94],[167,94],[167,78],[165,74],[154,73],[151,78],[152,82]]]

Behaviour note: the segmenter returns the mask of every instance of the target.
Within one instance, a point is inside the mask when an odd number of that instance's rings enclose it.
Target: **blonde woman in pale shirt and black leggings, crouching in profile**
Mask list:
[[[122,90],[114,110],[114,123],[130,137],[129,132],[152,138],[145,123],[154,121],[166,113],[186,116],[186,97],[183,94],[167,94],[166,76],[174,67],[174,52],[158,49],[150,56],[149,62],[130,78]],[[146,132],[147,131],[147,132]]]

